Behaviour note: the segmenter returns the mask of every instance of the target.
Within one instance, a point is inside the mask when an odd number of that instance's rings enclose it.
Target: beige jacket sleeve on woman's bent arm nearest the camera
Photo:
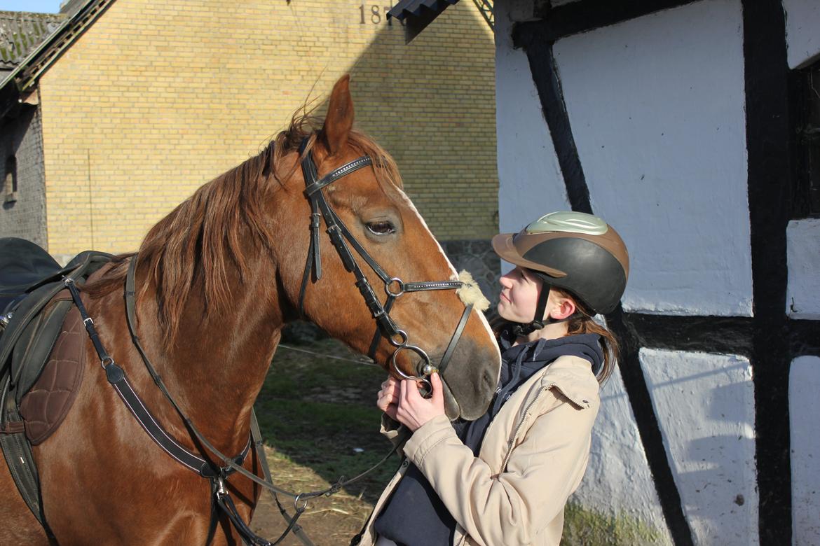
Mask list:
[[[535,418],[499,474],[473,456],[444,416],[426,422],[404,446],[478,544],[533,544],[581,482],[597,405],[576,408],[553,390],[542,396],[553,399],[546,413]]]

